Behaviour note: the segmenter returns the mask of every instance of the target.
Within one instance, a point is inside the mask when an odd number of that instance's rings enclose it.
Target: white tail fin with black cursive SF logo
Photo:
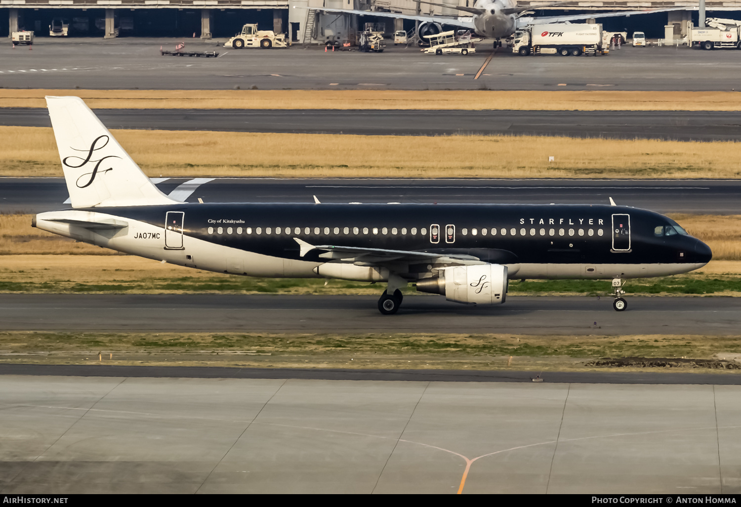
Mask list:
[[[73,208],[178,202],[156,188],[82,99],[46,101]]]

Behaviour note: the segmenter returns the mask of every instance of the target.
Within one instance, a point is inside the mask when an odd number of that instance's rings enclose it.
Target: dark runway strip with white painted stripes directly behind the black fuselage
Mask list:
[[[60,169],[61,173],[61,169]],[[162,178],[157,187],[198,202],[427,202],[608,204],[659,213],[741,213],[740,180]],[[62,178],[1,178],[0,212],[68,208]]]

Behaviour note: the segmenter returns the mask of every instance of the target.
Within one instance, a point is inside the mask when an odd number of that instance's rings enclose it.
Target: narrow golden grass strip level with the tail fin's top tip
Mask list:
[[[741,109],[739,92],[486,90],[0,90],[0,107],[46,107],[46,95],[132,109]]]

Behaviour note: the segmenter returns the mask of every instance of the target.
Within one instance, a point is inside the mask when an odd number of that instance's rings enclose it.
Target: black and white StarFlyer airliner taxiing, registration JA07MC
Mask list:
[[[72,210],[33,225],[79,241],[219,273],[388,282],[497,305],[508,279],[686,273],[708,245],[653,211],[615,205],[201,204],[162,193],[78,97],[47,97]]]

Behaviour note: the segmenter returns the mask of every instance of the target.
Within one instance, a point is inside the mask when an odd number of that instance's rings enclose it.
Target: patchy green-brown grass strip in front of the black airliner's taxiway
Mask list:
[[[703,335],[249,334],[0,332],[0,362],[242,368],[389,368],[530,371],[729,369],[595,367],[598,357],[741,360],[739,337]],[[684,366],[684,367],[682,367]]]

